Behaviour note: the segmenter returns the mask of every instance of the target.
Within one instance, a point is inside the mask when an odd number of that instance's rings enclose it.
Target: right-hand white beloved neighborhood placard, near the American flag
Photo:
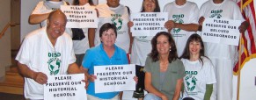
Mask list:
[[[206,18],[202,25],[201,38],[204,42],[238,46],[240,20]]]

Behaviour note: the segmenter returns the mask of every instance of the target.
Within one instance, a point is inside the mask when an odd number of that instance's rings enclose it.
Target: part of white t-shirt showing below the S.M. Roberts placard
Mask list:
[[[131,63],[135,65],[145,66],[145,62],[148,54],[150,54],[151,46],[151,36],[136,36],[134,38],[132,53],[131,53]]]

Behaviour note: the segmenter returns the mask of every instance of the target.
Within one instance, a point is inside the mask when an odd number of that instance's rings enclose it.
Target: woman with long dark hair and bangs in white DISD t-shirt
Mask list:
[[[216,83],[212,62],[204,55],[204,46],[200,35],[194,33],[187,39],[187,45],[181,55],[185,66],[185,90],[183,98],[209,100]]]

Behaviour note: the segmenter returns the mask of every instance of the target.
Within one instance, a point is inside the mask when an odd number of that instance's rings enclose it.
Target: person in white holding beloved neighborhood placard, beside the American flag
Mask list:
[[[241,20],[238,30],[244,33],[248,23],[243,18],[238,4],[232,0],[208,0],[201,5],[199,24],[205,18]],[[201,29],[201,28],[200,28]],[[238,46],[205,42],[205,53],[213,62],[216,71],[217,100],[232,100],[232,72],[238,61]]]

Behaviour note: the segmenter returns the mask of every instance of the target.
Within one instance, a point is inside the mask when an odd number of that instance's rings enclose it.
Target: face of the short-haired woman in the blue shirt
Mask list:
[[[102,33],[100,39],[103,43],[103,46],[113,46],[116,39],[115,32],[113,31],[113,29],[106,30]]]

